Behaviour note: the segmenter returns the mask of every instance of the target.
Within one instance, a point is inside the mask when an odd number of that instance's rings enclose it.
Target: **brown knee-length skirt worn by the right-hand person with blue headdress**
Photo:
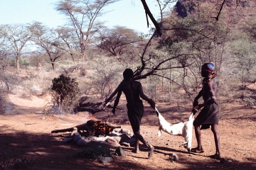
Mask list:
[[[210,125],[218,124],[220,120],[220,105],[215,102],[205,106],[198,114],[193,125],[202,125],[201,129],[208,129]]]

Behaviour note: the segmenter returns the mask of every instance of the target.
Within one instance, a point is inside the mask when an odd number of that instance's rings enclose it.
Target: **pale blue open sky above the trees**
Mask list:
[[[38,21],[44,26],[56,28],[67,23],[66,16],[55,10],[58,0],[0,0],[0,25],[13,23],[32,23]],[[159,6],[155,0],[146,0],[155,18],[159,18]],[[147,33],[144,7],[140,0],[122,0],[104,8],[108,11],[100,17],[105,26],[125,26],[138,33]],[[150,21],[150,19],[149,19]],[[151,26],[154,27],[151,23]]]

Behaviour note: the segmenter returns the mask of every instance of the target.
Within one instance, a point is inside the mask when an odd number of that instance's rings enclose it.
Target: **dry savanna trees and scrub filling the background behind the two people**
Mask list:
[[[127,67],[156,103],[191,103],[205,62],[215,64],[220,102],[255,106],[255,91],[248,88],[256,82],[255,2],[157,0],[159,35],[155,28],[106,28],[97,18],[115,1],[60,0],[55,9],[70,24],[58,28],[36,21],[1,25],[1,113],[8,94],[50,94],[61,77],[73,81],[78,97],[65,103],[53,94],[52,106],[73,113],[78,98],[107,103]]]

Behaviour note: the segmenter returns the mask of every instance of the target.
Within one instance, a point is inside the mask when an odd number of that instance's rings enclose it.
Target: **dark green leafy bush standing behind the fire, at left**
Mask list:
[[[70,77],[61,74],[60,77],[53,79],[51,85],[53,103],[60,111],[70,111],[78,99],[79,87],[78,82]]]

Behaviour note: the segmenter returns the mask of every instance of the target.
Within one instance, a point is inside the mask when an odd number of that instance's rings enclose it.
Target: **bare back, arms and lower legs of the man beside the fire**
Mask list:
[[[127,99],[127,104],[132,105],[135,103],[139,103],[140,98],[142,98],[145,101],[149,102],[152,108],[155,107],[154,101],[152,101],[144,94],[142,90],[142,84],[139,81],[134,81],[132,78],[129,78],[125,81],[122,81],[122,83],[118,86],[117,98],[114,101],[112,113],[115,113],[115,108],[117,108],[122,92],[124,92],[124,95]],[[136,146],[134,151],[135,153],[139,153],[139,141],[141,141],[149,149],[153,147],[144,140],[144,137],[140,134],[140,131],[134,132],[134,135],[136,137]]]

